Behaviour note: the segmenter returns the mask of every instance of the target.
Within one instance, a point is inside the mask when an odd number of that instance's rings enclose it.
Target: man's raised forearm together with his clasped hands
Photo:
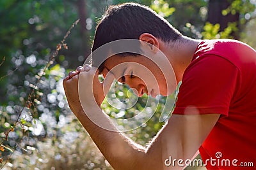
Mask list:
[[[138,162],[146,160],[144,159],[145,148],[136,145],[124,134],[118,132],[115,125],[102,113],[94,100],[95,98],[92,97],[94,96],[92,85],[84,86],[88,82],[92,83],[94,74],[86,73],[86,67],[84,70],[79,72],[79,75],[73,71],[63,80],[63,87],[70,109],[90,134],[111,166],[115,169],[143,169],[140,168]],[[95,83],[99,83],[99,81]],[[99,83],[96,87],[100,86],[102,84]],[[95,91],[99,90],[95,89]],[[99,98],[97,98],[97,101],[99,103]]]

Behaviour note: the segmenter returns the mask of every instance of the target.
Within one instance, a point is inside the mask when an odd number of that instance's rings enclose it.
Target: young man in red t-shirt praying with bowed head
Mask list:
[[[187,38],[150,8],[134,3],[109,7],[97,26],[92,52],[118,39],[145,42],[134,48],[146,46],[157,60],[163,52],[175,84],[182,84],[172,117],[145,148],[116,131],[97,108],[104,88],[94,73],[102,73],[106,82],[127,83],[138,96],[155,97],[173,91],[173,82],[164,76],[168,69],[144,55],[109,48],[111,57],[100,61],[92,55],[93,67],[77,67],[63,80],[71,110],[114,169],[184,169],[198,150],[207,169],[256,166],[255,50],[230,39]]]

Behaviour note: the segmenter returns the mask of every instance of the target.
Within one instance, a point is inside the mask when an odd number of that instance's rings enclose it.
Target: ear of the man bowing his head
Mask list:
[[[153,36],[152,34],[149,33],[143,33],[140,35],[139,40],[141,41],[145,41],[147,43],[147,45],[150,46],[150,49],[156,53],[157,50],[159,49],[159,41],[157,40],[157,38],[155,36]]]

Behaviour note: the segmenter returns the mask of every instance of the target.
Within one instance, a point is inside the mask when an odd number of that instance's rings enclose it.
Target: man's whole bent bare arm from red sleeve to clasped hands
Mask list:
[[[84,113],[78,97],[78,85],[83,84],[78,83],[79,78],[86,80],[83,82],[86,83],[90,78],[92,80],[93,74],[90,71],[81,72],[80,75],[63,81],[68,104],[114,169],[184,169],[177,165],[166,167],[164,160],[170,156],[172,159],[192,159],[220,117],[219,114],[173,115],[150,145],[144,148],[118,132],[115,125],[97,107],[99,104],[88,101],[86,96],[93,95],[90,94],[90,88],[83,90],[84,94],[79,93],[81,101],[87,103],[86,112],[90,112]],[[96,96],[95,100],[99,98]],[[102,102],[102,97],[99,101]]]

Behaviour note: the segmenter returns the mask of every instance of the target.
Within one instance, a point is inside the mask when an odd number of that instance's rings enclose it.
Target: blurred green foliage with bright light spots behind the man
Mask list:
[[[0,151],[3,159],[0,168],[112,169],[70,112],[61,80],[70,69],[82,65],[90,53],[95,25],[106,6],[125,2],[128,1],[0,1],[0,60],[6,59],[0,66],[0,144],[4,150]],[[222,32],[219,24],[206,22],[209,6],[205,0],[130,2],[150,6],[186,36],[232,38],[230,33],[238,31],[244,42],[256,46],[253,38],[256,2],[253,0],[234,0],[223,10],[223,15],[240,13],[242,25],[230,23]],[[61,50],[35,88],[56,45],[77,18],[82,20],[67,38],[68,50]],[[32,89],[35,96],[28,107],[26,101]],[[175,94],[170,99],[174,103]],[[159,118],[165,102],[166,97],[138,98],[129,87],[115,83],[115,90],[108,94],[102,108],[116,119],[120,129],[131,130],[125,132],[127,136],[145,145],[164,124]],[[134,119],[125,122],[125,118]]]

